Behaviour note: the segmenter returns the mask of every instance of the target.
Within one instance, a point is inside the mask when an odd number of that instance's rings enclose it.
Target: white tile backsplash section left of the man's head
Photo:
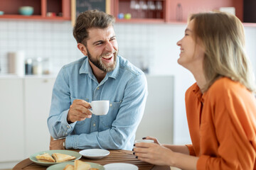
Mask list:
[[[8,73],[7,53],[17,50],[25,51],[26,58],[49,58],[55,62],[50,64],[53,73],[81,57],[75,50],[70,22],[12,20],[0,21],[0,26],[1,74]]]

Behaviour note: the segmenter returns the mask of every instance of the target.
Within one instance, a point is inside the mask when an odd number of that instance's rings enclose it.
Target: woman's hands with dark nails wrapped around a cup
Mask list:
[[[144,162],[157,165],[172,166],[171,157],[174,152],[171,149],[159,145],[154,137],[146,137],[146,140],[154,140],[156,143],[136,143],[134,144],[134,154]]]

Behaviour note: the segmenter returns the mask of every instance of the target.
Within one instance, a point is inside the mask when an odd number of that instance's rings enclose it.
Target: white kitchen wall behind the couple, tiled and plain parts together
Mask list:
[[[55,73],[63,64],[82,57],[70,22],[3,20],[0,26],[1,74],[7,72],[7,52],[16,50],[25,50],[26,57],[50,58]],[[194,79],[190,72],[177,64],[179,47],[176,45],[184,35],[186,24],[117,23],[114,28],[120,55],[138,67],[144,63],[150,74],[174,76],[174,143],[191,142],[184,94]],[[256,27],[246,27],[245,35],[247,54],[256,68]]]

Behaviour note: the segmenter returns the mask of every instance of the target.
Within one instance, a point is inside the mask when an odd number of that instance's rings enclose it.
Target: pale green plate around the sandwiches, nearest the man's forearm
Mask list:
[[[69,154],[71,156],[74,156],[75,159],[71,160],[70,162],[74,162],[77,159],[80,159],[82,157],[82,155],[78,152],[75,151],[70,151],[70,150],[46,150],[46,151],[41,151],[41,152],[37,152],[35,154],[32,154],[29,159],[31,159],[32,162],[39,164],[39,165],[43,165],[43,166],[50,166],[53,164],[59,164],[60,162],[38,162],[38,160],[36,159],[36,156],[38,154],[44,154],[44,153],[48,153],[50,155],[52,155],[53,153],[60,153],[60,154]]]

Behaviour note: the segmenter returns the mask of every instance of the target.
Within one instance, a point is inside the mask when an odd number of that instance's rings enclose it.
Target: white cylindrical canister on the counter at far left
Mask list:
[[[16,74],[18,76],[23,76],[25,74],[24,58],[25,52],[23,51],[8,53],[10,74]]]

